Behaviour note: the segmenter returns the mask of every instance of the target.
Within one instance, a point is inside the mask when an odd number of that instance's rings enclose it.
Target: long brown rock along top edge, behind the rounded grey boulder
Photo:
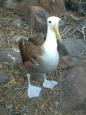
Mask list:
[[[13,1],[13,0],[7,0]],[[13,1],[14,2],[14,1]],[[16,0],[15,0],[16,3]],[[8,2],[9,6],[10,3]],[[12,5],[11,5],[12,6]],[[29,6],[40,6],[44,8],[50,15],[59,15],[61,16],[64,12],[64,1],[63,0],[23,0],[22,2],[17,2],[16,7],[23,11],[26,10]],[[59,7],[58,7],[59,6]]]

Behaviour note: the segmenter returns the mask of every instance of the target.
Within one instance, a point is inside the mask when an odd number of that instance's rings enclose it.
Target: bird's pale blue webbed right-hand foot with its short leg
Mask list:
[[[44,88],[53,89],[57,84],[58,84],[58,82],[56,82],[54,80],[47,80],[46,75],[45,75],[44,82],[43,82]]]

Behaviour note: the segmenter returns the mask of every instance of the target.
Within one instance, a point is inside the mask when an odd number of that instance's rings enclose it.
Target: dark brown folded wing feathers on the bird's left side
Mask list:
[[[34,43],[21,38],[19,41],[19,49],[22,57],[23,64],[28,62],[28,66],[37,64],[37,59],[41,55],[42,48]]]

